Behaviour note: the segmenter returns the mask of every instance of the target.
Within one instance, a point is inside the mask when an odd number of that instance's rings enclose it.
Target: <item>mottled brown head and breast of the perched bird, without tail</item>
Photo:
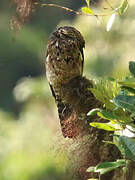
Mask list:
[[[52,86],[82,75],[83,48],[83,37],[73,27],[60,27],[52,34],[46,55],[46,75]]]

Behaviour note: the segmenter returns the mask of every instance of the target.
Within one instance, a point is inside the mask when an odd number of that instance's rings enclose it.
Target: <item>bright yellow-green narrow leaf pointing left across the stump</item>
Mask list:
[[[117,129],[115,128],[112,123],[98,123],[98,122],[92,122],[90,123],[91,126],[96,127],[98,129],[103,129],[105,131],[116,131]]]

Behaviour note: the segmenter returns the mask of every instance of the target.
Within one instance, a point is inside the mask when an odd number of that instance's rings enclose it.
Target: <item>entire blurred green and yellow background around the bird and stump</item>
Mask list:
[[[60,3],[75,10],[85,4],[82,0]],[[112,4],[115,6],[114,1]],[[107,5],[103,2],[99,9],[103,6]],[[66,180],[68,160],[65,151],[56,151],[61,148],[62,135],[44,75],[47,39],[56,26],[72,25],[86,40],[84,75],[126,76],[128,61],[135,59],[134,9],[131,0],[126,14],[117,16],[111,31],[106,32],[108,16],[76,17],[57,8],[38,8],[15,37],[9,28],[15,8],[11,2],[1,0],[0,179]]]

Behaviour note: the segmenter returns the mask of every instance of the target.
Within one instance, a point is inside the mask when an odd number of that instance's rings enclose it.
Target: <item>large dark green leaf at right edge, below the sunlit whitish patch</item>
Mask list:
[[[119,136],[117,147],[126,158],[135,161],[135,139],[127,136]]]

